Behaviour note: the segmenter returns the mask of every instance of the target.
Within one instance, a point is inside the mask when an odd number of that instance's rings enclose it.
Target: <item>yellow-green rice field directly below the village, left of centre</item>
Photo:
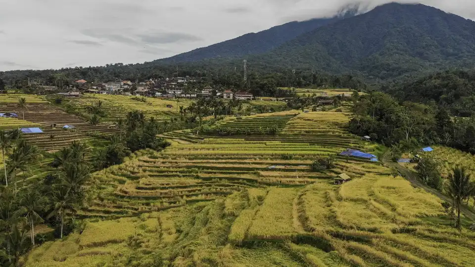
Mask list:
[[[147,102],[140,102],[131,99],[133,96],[109,95],[109,94],[88,94],[83,97],[69,99],[68,103],[86,113],[86,107],[95,105],[102,101],[104,111],[107,113],[106,120],[115,121],[117,118],[125,117],[129,111],[139,110],[147,116],[154,116],[158,120],[169,120],[172,117],[179,117],[179,106],[185,108],[191,104],[189,99],[166,100],[153,97],[146,97]],[[167,108],[172,105],[172,108]]]

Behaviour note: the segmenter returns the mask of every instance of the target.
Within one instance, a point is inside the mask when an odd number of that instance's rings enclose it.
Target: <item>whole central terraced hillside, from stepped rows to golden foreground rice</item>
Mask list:
[[[43,244],[24,266],[474,266],[475,234],[428,223],[444,215],[441,200],[393,170],[338,156],[310,170],[319,156],[379,149],[335,132],[343,118],[331,115],[303,122],[332,134],[163,134],[165,150],[95,173],[82,233]],[[334,185],[340,173],[353,179]]]

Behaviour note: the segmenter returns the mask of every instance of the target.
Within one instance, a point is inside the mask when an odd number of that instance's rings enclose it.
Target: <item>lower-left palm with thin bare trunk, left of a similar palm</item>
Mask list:
[[[21,206],[25,208],[25,217],[31,228],[31,243],[35,245],[35,222],[43,221],[38,212],[45,210],[46,199],[37,190],[30,188],[21,198]]]

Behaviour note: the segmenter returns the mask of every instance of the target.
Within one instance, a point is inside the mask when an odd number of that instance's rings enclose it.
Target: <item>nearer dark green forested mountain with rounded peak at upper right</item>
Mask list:
[[[423,4],[388,3],[250,56],[255,68],[396,78],[475,62],[475,22]]]

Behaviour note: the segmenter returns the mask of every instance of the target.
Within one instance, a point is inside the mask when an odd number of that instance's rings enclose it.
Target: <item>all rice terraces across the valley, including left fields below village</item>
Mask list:
[[[22,97],[27,105],[19,107]],[[36,223],[37,244],[19,258],[22,266],[475,265],[472,210],[462,215],[462,231],[453,228],[443,199],[386,164],[386,147],[350,134],[352,113],[249,115],[231,106],[234,115],[215,120],[203,113],[189,124],[183,117],[197,105],[193,100],[178,100],[177,111],[167,108],[176,100],[131,98],[0,99],[5,114],[17,115],[0,118],[2,129],[43,129],[23,134],[42,157],[19,169],[19,187],[44,183],[71,142],[87,144],[85,160],[94,164],[95,151],[127,128],[117,120],[134,108],[145,120],[155,118],[157,137],[168,142],[92,173],[84,202],[64,209],[69,233],[54,239],[54,225]],[[97,103],[107,116],[92,124]],[[455,153],[448,149],[437,147],[437,159]],[[459,161],[471,166],[473,156]],[[447,175],[450,166],[442,171]]]

